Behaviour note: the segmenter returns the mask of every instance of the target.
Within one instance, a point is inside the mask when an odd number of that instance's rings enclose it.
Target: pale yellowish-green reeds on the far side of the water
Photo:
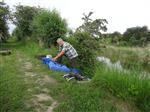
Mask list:
[[[108,46],[102,48],[98,53],[100,56],[105,56],[111,61],[120,61],[126,69],[150,72],[150,48],[129,48],[129,47],[114,47]],[[137,61],[138,60],[138,61]]]

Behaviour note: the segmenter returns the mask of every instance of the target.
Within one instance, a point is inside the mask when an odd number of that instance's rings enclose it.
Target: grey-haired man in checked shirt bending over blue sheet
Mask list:
[[[76,68],[78,53],[74,47],[61,38],[57,39],[57,44],[59,45],[59,53],[53,58],[53,61],[57,61],[59,58],[65,55],[69,59],[71,67]],[[83,80],[83,77],[80,74],[70,73],[69,76],[75,77],[77,80]]]

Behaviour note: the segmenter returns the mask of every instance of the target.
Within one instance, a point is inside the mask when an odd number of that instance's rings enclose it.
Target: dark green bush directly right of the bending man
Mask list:
[[[74,37],[67,38],[79,54],[79,69],[83,75],[93,76],[96,65],[96,50],[98,42],[88,33],[75,33]]]

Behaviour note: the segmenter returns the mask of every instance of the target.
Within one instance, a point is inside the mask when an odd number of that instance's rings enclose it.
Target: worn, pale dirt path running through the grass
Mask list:
[[[18,53],[17,55],[21,70],[24,73],[24,81],[27,85],[27,98],[25,101],[26,111],[34,112],[53,112],[58,102],[49,95],[49,89],[46,85],[56,84],[56,80],[42,73],[36,73],[33,69],[38,67],[31,63],[30,59],[24,58]]]

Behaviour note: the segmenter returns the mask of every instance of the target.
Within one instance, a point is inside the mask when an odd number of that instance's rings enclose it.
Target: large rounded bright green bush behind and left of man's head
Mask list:
[[[41,10],[33,21],[34,36],[45,46],[55,43],[57,38],[64,38],[67,24],[56,10]]]

